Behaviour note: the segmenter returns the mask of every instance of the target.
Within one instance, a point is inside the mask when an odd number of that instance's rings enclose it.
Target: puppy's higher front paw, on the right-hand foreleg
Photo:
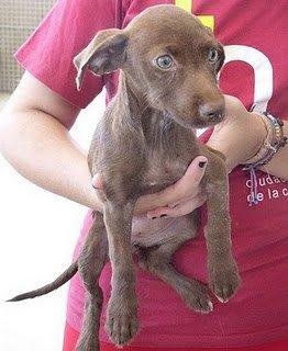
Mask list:
[[[233,258],[209,264],[209,285],[221,303],[226,303],[241,284],[239,270]]]

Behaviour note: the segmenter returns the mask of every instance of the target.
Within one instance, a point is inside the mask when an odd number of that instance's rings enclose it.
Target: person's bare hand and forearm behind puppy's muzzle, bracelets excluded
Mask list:
[[[217,125],[207,143],[226,157],[232,170],[257,154],[267,135],[265,125],[257,113],[246,111],[242,102],[226,95],[228,117]],[[284,121],[284,135],[288,136],[288,123]],[[288,180],[288,147],[280,148],[272,160],[259,169],[266,173]]]

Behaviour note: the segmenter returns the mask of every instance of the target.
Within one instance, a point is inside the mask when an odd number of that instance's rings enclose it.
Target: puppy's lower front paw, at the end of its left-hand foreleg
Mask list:
[[[137,329],[136,301],[128,298],[109,304],[106,330],[113,343],[120,347],[128,344]]]

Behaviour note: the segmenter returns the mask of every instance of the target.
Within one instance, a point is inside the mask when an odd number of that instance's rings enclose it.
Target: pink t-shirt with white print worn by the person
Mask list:
[[[187,2],[187,1],[186,1]],[[148,5],[174,3],[160,0],[59,0],[16,59],[44,84],[79,107],[85,107],[107,88],[108,98],[117,91],[118,75],[99,78],[87,73],[77,92],[73,57],[99,31],[124,27]],[[273,114],[288,116],[288,21],[287,0],[240,1],[195,0],[192,12],[210,15],[214,33],[225,45],[228,64],[221,73],[225,93],[239,97],[247,107],[254,102],[268,105]],[[137,272],[141,330],[132,346],[147,347],[244,347],[287,338],[288,335],[288,182],[257,172],[259,204],[248,206],[248,174],[236,168],[230,176],[233,252],[240,267],[242,288],[229,304],[213,299],[214,310],[199,316],[189,310],[166,284]],[[206,212],[202,210],[204,223]],[[91,225],[87,215],[77,245],[77,257]],[[207,249],[200,235],[174,258],[187,276],[207,282]],[[110,264],[101,274],[104,310],[110,294]],[[76,275],[70,285],[68,322],[79,330],[84,290]]]

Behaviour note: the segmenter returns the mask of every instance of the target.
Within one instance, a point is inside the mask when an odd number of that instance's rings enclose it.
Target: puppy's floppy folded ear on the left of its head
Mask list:
[[[76,86],[80,90],[84,73],[88,68],[95,75],[111,73],[125,60],[128,36],[121,30],[98,32],[90,44],[74,58],[77,68]]]

